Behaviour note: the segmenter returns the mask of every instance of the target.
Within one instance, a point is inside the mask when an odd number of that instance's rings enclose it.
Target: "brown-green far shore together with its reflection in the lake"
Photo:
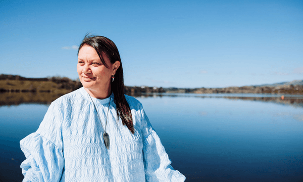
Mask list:
[[[79,80],[67,77],[25,78],[18,75],[0,75],[0,106],[12,106],[28,103],[51,104],[54,100],[82,87]],[[245,93],[245,94],[295,94],[303,95],[303,85],[270,86],[242,86],[226,88],[162,88],[148,86],[125,86],[125,94],[135,97],[165,96],[163,93]],[[196,96],[204,97],[204,96]],[[256,97],[223,97],[226,99],[240,99],[249,101],[274,102],[277,104],[303,107],[301,98],[256,98]]]

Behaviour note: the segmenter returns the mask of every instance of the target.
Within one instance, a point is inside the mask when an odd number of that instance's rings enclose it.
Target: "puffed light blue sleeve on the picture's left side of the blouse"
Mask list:
[[[23,181],[59,181],[64,158],[62,150],[63,112],[56,103],[49,106],[38,130],[20,141],[26,160]]]

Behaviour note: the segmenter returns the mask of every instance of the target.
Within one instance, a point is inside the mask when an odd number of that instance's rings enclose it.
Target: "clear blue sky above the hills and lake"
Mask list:
[[[125,85],[303,79],[303,1],[3,1],[0,74],[78,77],[87,32],[112,39]]]

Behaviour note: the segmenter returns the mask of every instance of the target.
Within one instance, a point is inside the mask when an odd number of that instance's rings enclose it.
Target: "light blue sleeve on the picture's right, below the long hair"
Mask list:
[[[143,135],[143,161],[146,181],[184,181],[185,176],[174,170],[171,160],[151,126],[141,105],[141,132]]]

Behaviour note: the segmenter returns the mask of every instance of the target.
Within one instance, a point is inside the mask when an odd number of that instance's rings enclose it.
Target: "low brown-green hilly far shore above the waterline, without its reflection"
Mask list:
[[[64,95],[82,86],[79,80],[67,77],[25,78],[19,75],[0,75],[0,93],[52,93]],[[278,86],[230,86],[224,88],[163,88],[150,86],[124,86],[126,95],[140,95],[147,93],[243,93],[243,94],[279,94],[303,95],[303,85]]]

